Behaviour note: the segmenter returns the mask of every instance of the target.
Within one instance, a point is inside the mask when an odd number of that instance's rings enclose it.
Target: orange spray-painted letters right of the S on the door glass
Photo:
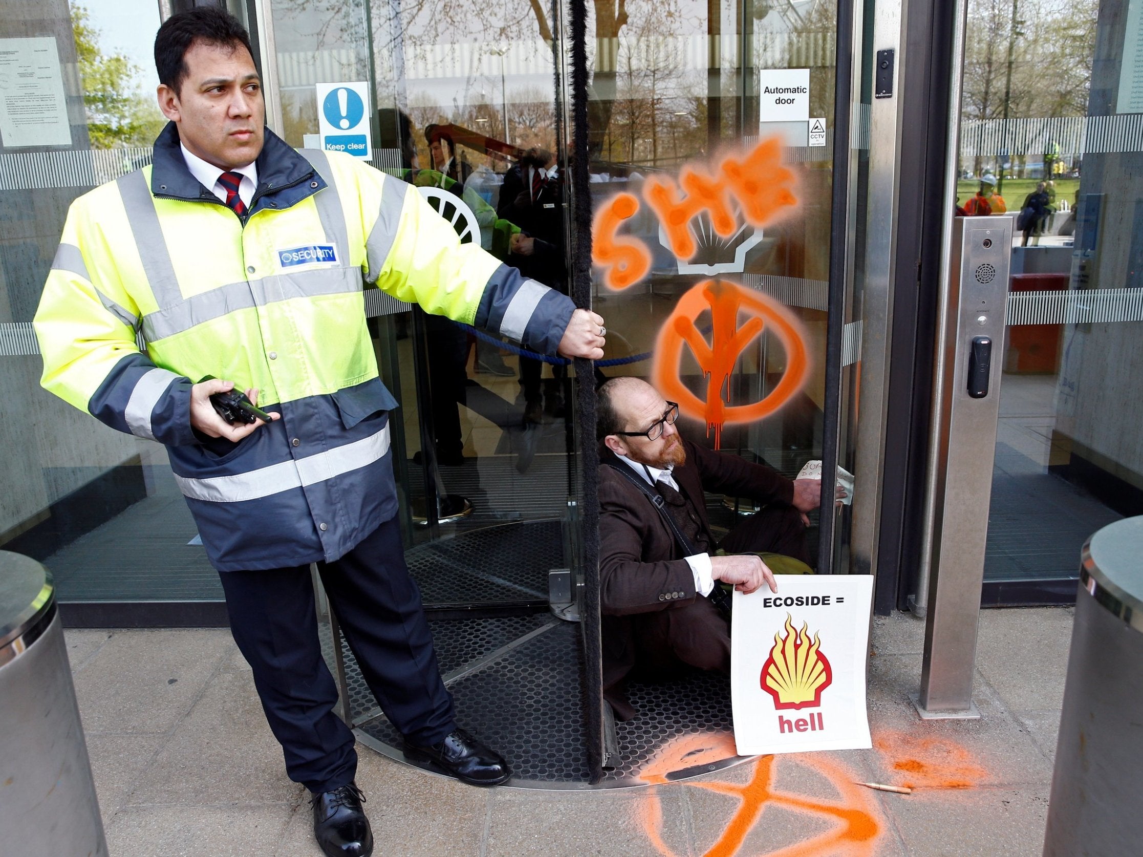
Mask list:
[[[690,166],[680,170],[678,185],[669,177],[652,176],[644,185],[644,199],[658,215],[671,251],[689,259],[698,251],[690,222],[701,213],[710,215],[714,232],[729,238],[736,229],[732,201],[737,201],[746,223],[764,226],[798,203],[792,185],[793,173],[782,166],[782,141],[772,137],[741,160],[725,158],[713,176]]]

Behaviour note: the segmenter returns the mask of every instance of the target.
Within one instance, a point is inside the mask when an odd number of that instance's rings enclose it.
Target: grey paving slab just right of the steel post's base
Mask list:
[[[1010,710],[1060,708],[1074,611],[981,610],[976,668]]]

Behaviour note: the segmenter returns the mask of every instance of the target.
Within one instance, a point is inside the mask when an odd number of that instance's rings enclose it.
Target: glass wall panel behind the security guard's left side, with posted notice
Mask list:
[[[43,561],[62,601],[215,600],[217,574],[152,441],[39,386],[31,320],[67,207],[150,162],[154,0],[6,2],[0,16],[0,547]]]

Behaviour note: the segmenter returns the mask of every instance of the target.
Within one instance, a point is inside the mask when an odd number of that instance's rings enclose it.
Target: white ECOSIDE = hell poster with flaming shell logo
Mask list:
[[[734,593],[730,694],[740,755],[864,750],[870,575],[778,575]]]

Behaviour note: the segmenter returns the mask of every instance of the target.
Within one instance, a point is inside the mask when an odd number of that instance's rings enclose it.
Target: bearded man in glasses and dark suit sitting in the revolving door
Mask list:
[[[638,378],[606,382],[598,407],[604,688],[628,720],[636,712],[623,682],[632,670],[729,672],[730,627],[718,606],[727,593],[716,587],[777,591],[762,552],[783,554],[770,561],[780,570],[808,572],[806,513],[817,507],[822,483],[684,440],[678,406]],[[767,505],[719,542],[704,490]]]

